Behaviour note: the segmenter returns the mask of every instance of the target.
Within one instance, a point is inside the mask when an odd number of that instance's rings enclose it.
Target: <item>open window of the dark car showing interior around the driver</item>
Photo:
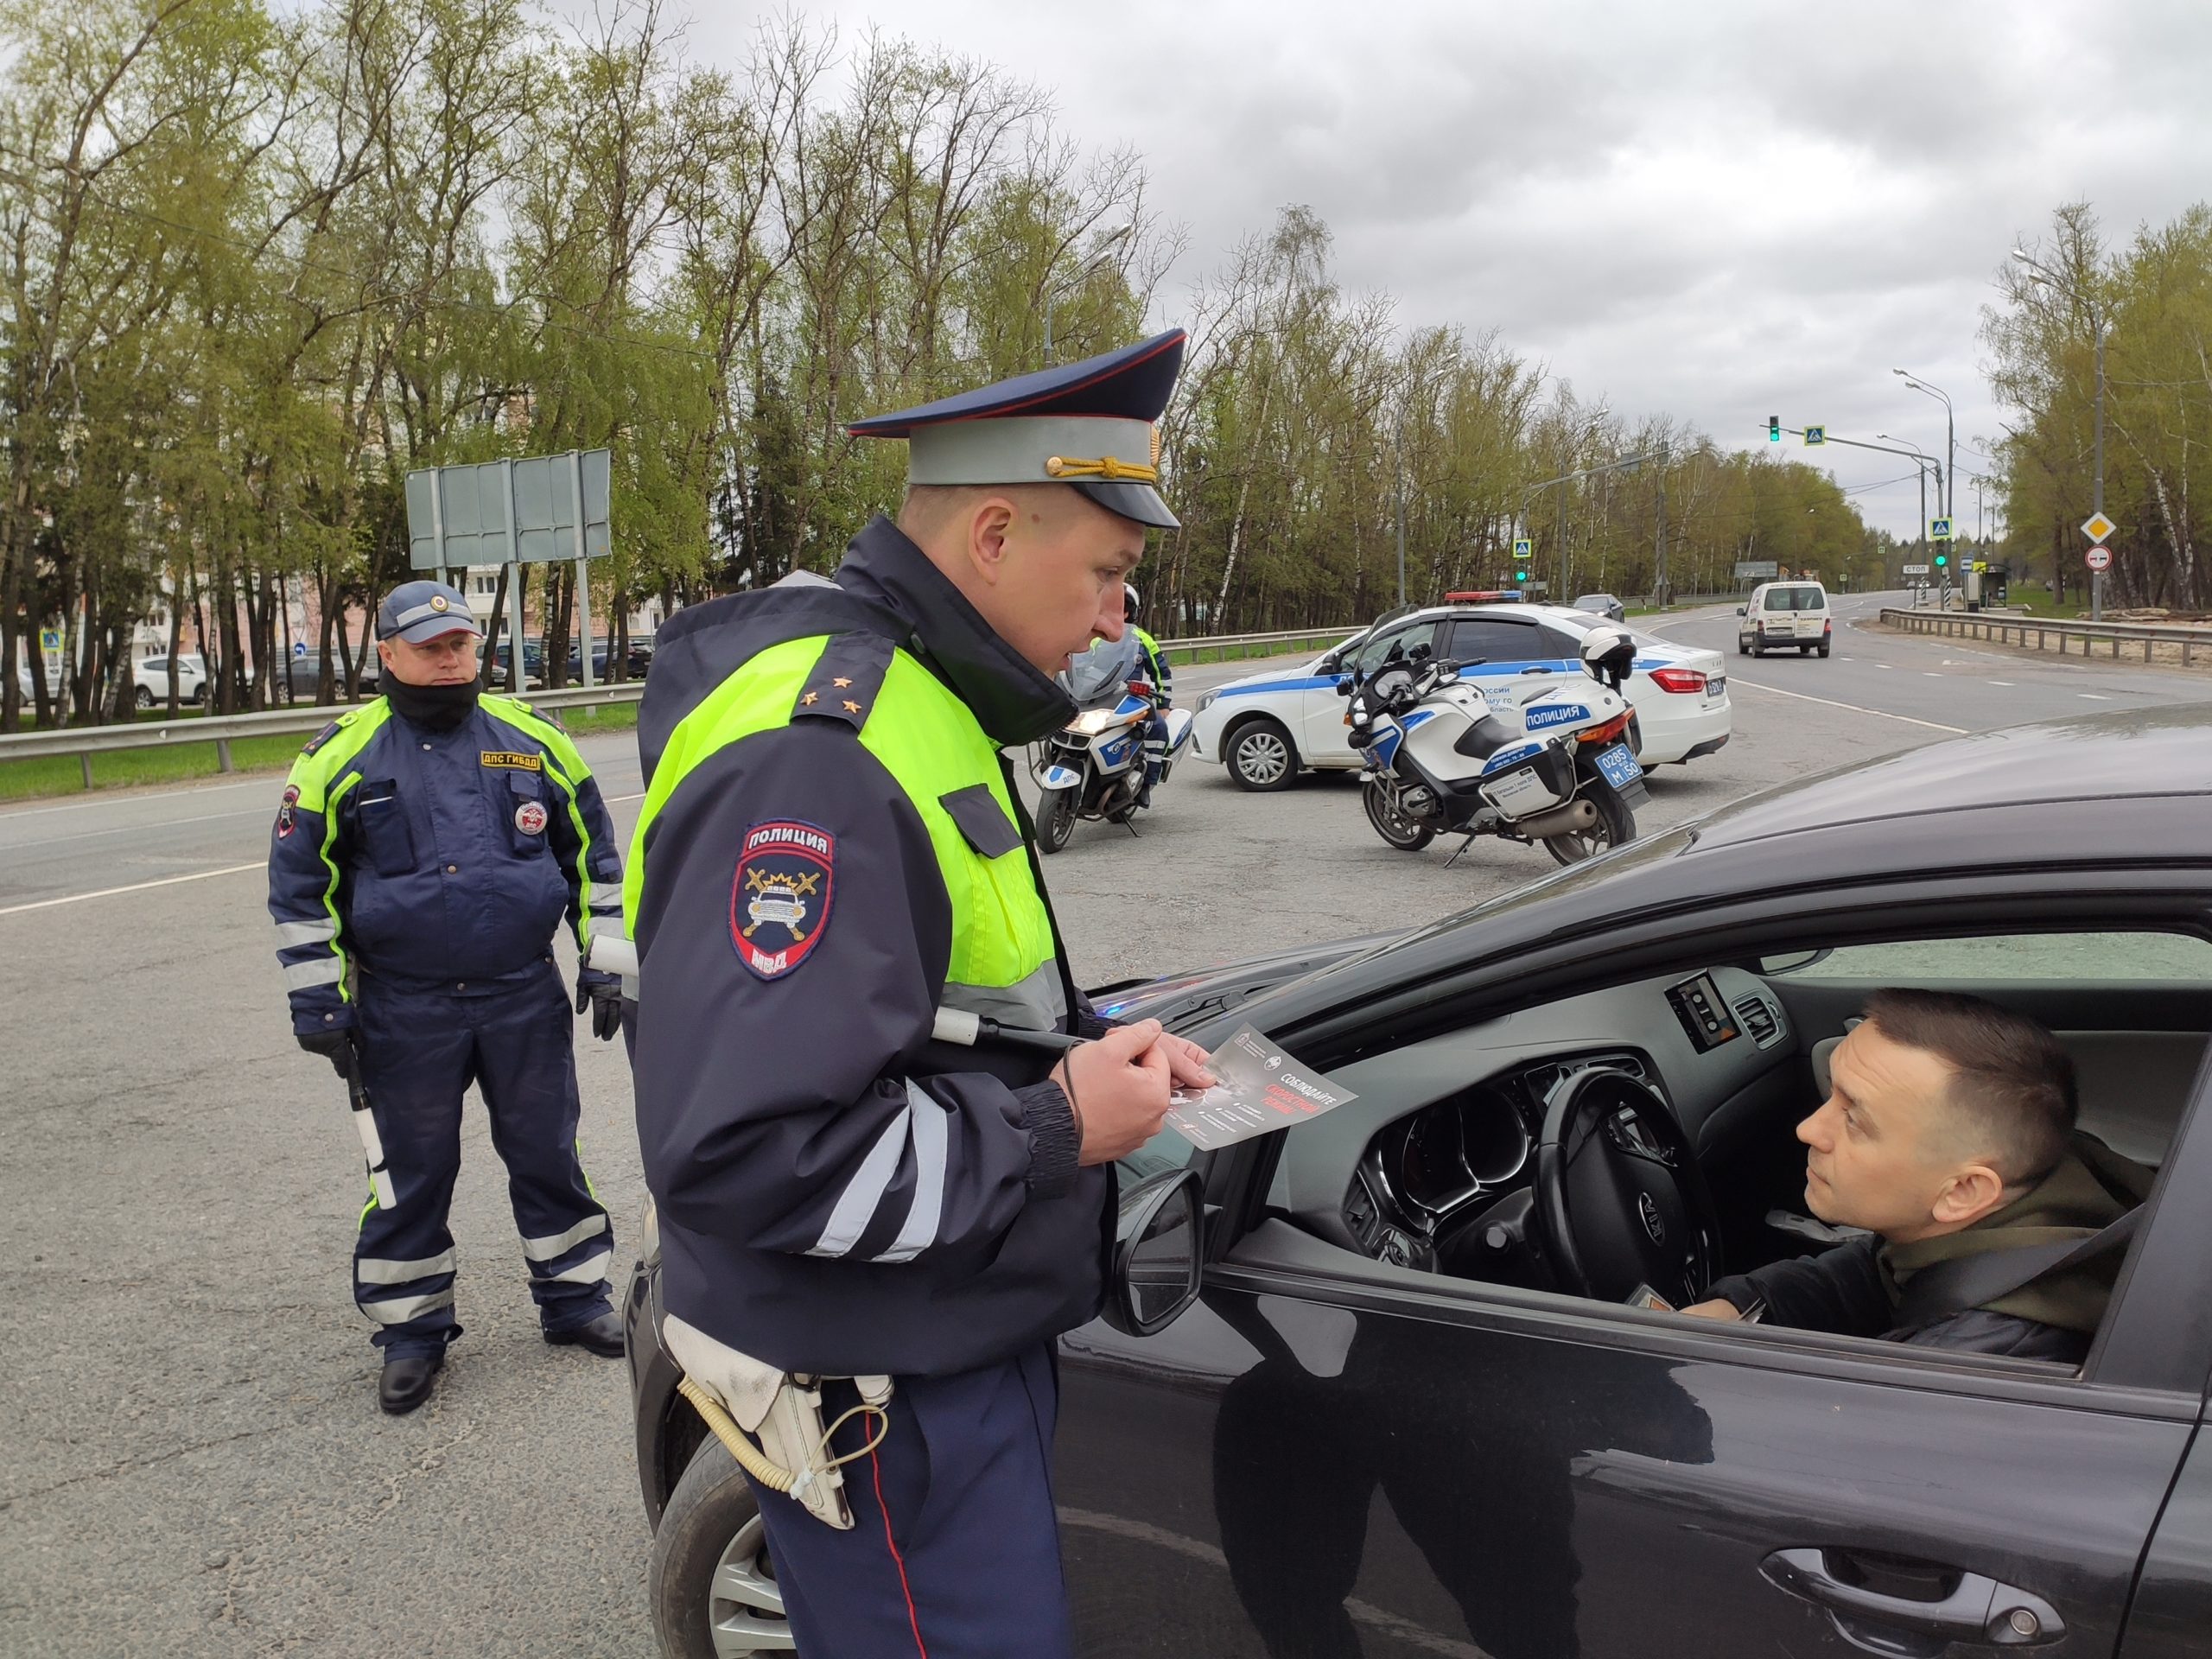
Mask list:
[[[2081,1237],[2090,1237],[2146,1203],[2172,1152],[2212,1031],[2212,998],[2201,998],[2199,984],[2212,984],[2212,940],[2143,929],[1851,945],[1776,956],[1772,969],[1767,962],[1677,969],[1564,995],[1398,1051],[1367,1051],[1332,1071],[1358,1099],[1274,1137],[1279,1155],[1261,1210],[1338,1248],[1347,1265],[1376,1263],[1383,1276],[1411,1270],[1431,1276],[1429,1283],[1460,1283],[1478,1301],[1553,1292],[1619,1305],[1624,1316],[1632,1305],[1650,1307],[1632,1301],[1635,1274],[1619,1267],[1632,1254],[1617,1245],[1639,1225],[1672,1232],[1688,1219],[1714,1234],[1721,1270],[1690,1281],[1690,1298],[1721,1279],[1812,1261],[1854,1241],[1876,1248],[1871,1234],[1812,1214],[1807,1148],[1796,1130],[1827,1097],[1829,1057],[1858,1022],[1867,993],[1922,987],[1969,991],[2028,1013],[2066,1048],[2079,1079],[2070,1157],[2104,1183],[2079,1223]],[[1555,1237],[1546,1232],[1562,1223],[1546,1217],[1557,1206],[1542,1192],[1540,1144],[1564,1084],[1593,1068],[1648,1091],[1677,1139],[1670,1146],[1666,1135],[1621,1119],[1617,1104],[1637,1097],[1621,1084],[1613,1091],[1619,1102],[1590,1117],[1582,1141],[1610,1139],[1644,1164],[1688,1159],[1694,1181],[1710,1192],[1710,1221],[1668,1192],[1659,1192],[1657,1206],[1641,1206],[1635,1177],[1615,1181],[1617,1192],[1635,1197],[1621,1199],[1619,1214],[1593,1217],[1597,1245],[1586,1241],[1588,1254],[1613,1250],[1615,1263],[1577,1281],[1559,1270]],[[1562,1148],[1575,1146],[1573,1133],[1568,1121]],[[1588,1183],[1582,1201],[1601,1203],[1604,1192],[1606,1183]],[[2090,1208],[2099,1214],[2088,1217]],[[1566,1225],[1579,1221],[1568,1217]],[[2104,1259],[2099,1298],[2110,1292],[2119,1261],[2121,1250]],[[1683,1265],[1690,1263],[1677,1263]],[[1677,1285],[1646,1287],[1674,1307],[1686,1305]],[[2090,1325],[2099,1318],[2090,1314]],[[1891,1329],[1778,1323],[1854,1349],[1891,1356],[1907,1349]],[[2079,1338],[2073,1347],[1913,1343],[1911,1352],[2026,1360],[2066,1376],[2077,1374],[2095,1334],[2081,1325],[2068,1329]]]

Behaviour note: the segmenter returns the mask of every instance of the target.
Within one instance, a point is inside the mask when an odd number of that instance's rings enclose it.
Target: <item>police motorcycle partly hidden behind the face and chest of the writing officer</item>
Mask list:
[[[1077,818],[1104,818],[1137,834],[1137,796],[1144,792],[1144,732],[1159,710],[1168,723],[1168,752],[1159,781],[1168,781],[1175,757],[1190,748],[1192,714],[1164,708],[1166,699],[1137,659],[1135,630],[1117,641],[1097,641],[1075,657],[1060,677],[1075,697],[1077,714],[1044,739],[1042,759],[1031,759],[1037,799],[1037,849],[1060,852],[1075,834]]]

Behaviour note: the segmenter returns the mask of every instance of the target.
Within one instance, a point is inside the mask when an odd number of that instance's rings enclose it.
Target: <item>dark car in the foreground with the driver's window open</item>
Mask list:
[[[1820,1248],[1792,1130],[1882,984],[2039,1018],[2084,1128],[2157,1168],[2081,1367],[1621,1301]],[[1201,1197],[1203,1241],[1126,1250],[1113,1314],[1062,1338],[1079,1652],[2203,1652],[2212,708],[1790,783],[1378,949],[1102,1009],[1208,1046],[1250,1022],[1358,1099],[1121,1166],[1126,1212]],[[752,1498],[675,1396],[657,1285],[648,1241],[657,1628],[774,1650]]]

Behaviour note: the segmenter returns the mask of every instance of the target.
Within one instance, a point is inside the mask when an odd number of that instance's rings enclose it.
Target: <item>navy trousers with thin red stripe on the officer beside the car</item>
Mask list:
[[[823,1385],[823,1422],[858,1402]],[[883,1444],[845,1464],[852,1531],[754,1486],[792,1637],[807,1659],[1068,1659],[1053,1522],[1053,1349],[896,1378]],[[876,1418],[832,1436],[843,1455]]]

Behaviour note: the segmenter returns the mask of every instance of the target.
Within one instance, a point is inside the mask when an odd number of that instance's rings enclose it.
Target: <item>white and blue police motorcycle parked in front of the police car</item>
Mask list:
[[[1471,666],[1416,646],[1338,688],[1352,699],[1360,799],[1376,834],[1400,852],[1464,834],[1453,860],[1484,834],[1540,841],[1562,865],[1635,841],[1635,807],[1650,799],[1621,692],[1635,641],[1593,628],[1582,666],[1595,684],[1544,686],[1526,699],[1506,684],[1493,703],[1458,679]]]

